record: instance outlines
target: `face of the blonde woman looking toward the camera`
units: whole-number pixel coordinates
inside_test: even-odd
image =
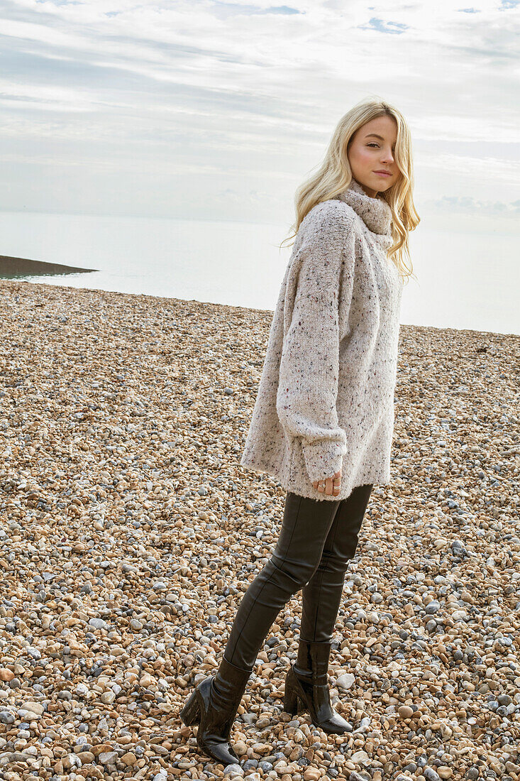
[[[391,116],[376,116],[354,133],[347,150],[354,179],[370,198],[392,187],[401,176],[394,160],[397,123]],[[389,175],[378,173],[388,171]]]

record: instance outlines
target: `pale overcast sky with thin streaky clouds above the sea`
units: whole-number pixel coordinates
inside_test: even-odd
[[[291,222],[376,96],[410,124],[419,214],[518,230],[518,0],[1,8],[2,210]]]

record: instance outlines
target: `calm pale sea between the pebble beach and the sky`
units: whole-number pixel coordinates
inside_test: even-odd
[[[455,230],[456,227],[456,230]],[[284,224],[0,212],[0,255],[99,269],[34,282],[274,309]],[[520,230],[511,219],[426,216],[411,234],[417,281],[401,323],[520,333]],[[1,276],[1,273],[0,273]]]

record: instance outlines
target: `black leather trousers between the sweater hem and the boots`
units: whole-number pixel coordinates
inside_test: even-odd
[[[237,608],[224,649],[228,662],[241,668],[255,665],[276,616],[300,589],[301,640],[332,640],[345,572],[371,492],[371,484],[358,486],[341,501],[287,492],[276,547]]]

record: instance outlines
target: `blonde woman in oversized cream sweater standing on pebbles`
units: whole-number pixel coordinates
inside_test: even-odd
[[[412,201],[408,125],[386,102],[354,106],[319,172],[297,191],[294,248],[272,319],[240,463],[287,490],[280,537],[240,601],[215,676],[180,717],[198,747],[238,762],[230,730],[269,628],[302,590],[297,662],[283,707],[327,733],[352,726],[330,703],[329,653],[344,576],[372,486],[390,482],[399,314]]]

